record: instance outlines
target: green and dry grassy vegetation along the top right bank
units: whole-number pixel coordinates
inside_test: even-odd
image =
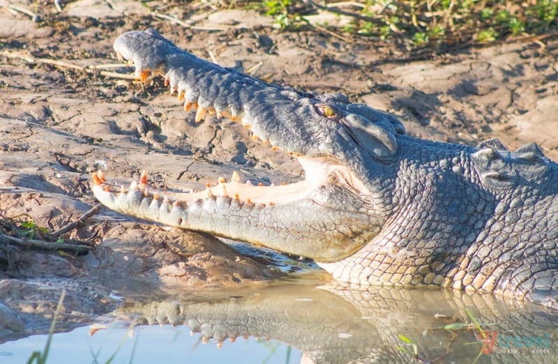
[[[412,47],[491,43],[558,30],[558,1],[554,0],[264,0],[248,4],[273,17],[280,29],[311,26],[306,17],[333,13],[338,24],[319,23],[315,16],[312,24],[354,36],[400,40]]]

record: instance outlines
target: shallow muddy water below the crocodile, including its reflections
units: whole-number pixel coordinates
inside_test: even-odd
[[[415,355],[441,363],[558,361],[556,314],[488,294],[453,291],[354,291],[281,282],[203,296],[127,300],[92,327],[107,328],[93,337],[90,327],[54,335],[52,357],[81,350],[83,363],[89,363],[91,347],[102,353],[99,359],[118,350],[126,363],[130,358],[152,363],[154,357],[188,363],[299,363],[301,356],[315,363],[400,363]],[[42,335],[2,344],[0,362],[21,363],[45,340]]]

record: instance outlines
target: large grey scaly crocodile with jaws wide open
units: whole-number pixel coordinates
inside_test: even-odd
[[[393,115],[340,94],[264,82],[199,59],[153,29],[123,33],[119,57],[195,109],[229,118],[299,160],[305,179],[201,192],[124,187],[93,173],[107,207],[172,227],[314,259],[352,287],[446,287],[558,308],[558,165],[537,144],[508,151],[405,134]]]

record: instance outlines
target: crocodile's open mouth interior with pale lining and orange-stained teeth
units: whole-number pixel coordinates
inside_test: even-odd
[[[120,52],[116,52],[119,59],[123,59]],[[128,59],[128,66],[134,65],[133,55],[126,54]],[[136,65],[137,66],[137,65]],[[160,69],[149,69],[145,66],[143,68],[136,67],[136,78],[145,82],[150,74],[160,75],[165,78],[165,86],[169,86],[171,95],[177,93],[179,102],[183,101],[183,108],[185,111],[193,111],[195,109],[195,121],[203,121],[206,116],[216,116],[218,118],[227,117],[232,121],[239,122],[242,126],[252,132],[252,139],[260,140],[264,144],[271,146],[274,151],[280,148],[273,145],[269,139],[258,133],[259,128],[252,128],[257,126],[257,121],[252,120],[249,110],[240,110],[232,107],[231,105],[223,106],[227,103],[223,100],[227,99],[227,95],[220,94],[211,97],[204,95],[196,89],[193,84],[186,82],[179,82],[177,77],[174,77],[172,72],[164,74]],[[287,91],[288,92],[288,91]],[[213,101],[209,101],[213,100]],[[331,110],[325,110],[331,112]],[[111,192],[128,192],[128,190],[140,189],[144,191],[144,195],[149,196],[155,194],[155,197],[162,197],[169,199],[170,202],[195,202],[199,199],[206,199],[208,197],[229,197],[231,199],[240,200],[252,204],[287,204],[308,197],[308,195],[317,190],[322,185],[327,185],[335,181],[336,184],[346,185],[352,190],[357,190],[366,193],[367,190],[363,183],[350,171],[345,165],[329,156],[309,157],[303,156],[301,153],[295,151],[284,150],[290,156],[295,156],[303,170],[306,178],[303,181],[290,184],[281,185],[252,185],[250,181],[245,183],[241,182],[238,173],[234,172],[232,177],[227,181],[225,178],[220,177],[218,183],[211,185],[207,183],[205,190],[201,192],[172,192],[165,190],[156,191],[152,188],[147,181],[147,175],[142,173],[139,181],[130,184],[129,188],[124,186],[117,186],[108,183],[102,172],[93,174],[93,181],[96,185],[103,185],[103,188]],[[163,196],[159,196],[163,195]]]

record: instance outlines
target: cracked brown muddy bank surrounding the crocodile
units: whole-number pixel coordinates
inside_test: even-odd
[[[0,0],[0,218],[59,229],[96,204],[91,172],[142,169],[159,185],[301,178],[298,162],[253,142],[231,121],[193,122],[161,79],[126,79],[112,41],[156,28],[190,52],[278,84],[343,92],[398,116],[407,132],[510,149],[538,142],[558,159],[558,38],[422,56],[369,38],[282,32],[250,11],[152,1]],[[169,17],[181,20],[176,24]],[[418,58],[418,59],[417,59]],[[114,75],[117,73],[117,75]],[[137,222],[107,210],[62,236],[88,255],[40,252],[0,239],[0,341],[44,332],[62,288],[61,328],[163,287],[219,287],[278,273],[216,238]],[[184,288],[189,289],[189,288]],[[1,329],[1,327],[4,327]]]

